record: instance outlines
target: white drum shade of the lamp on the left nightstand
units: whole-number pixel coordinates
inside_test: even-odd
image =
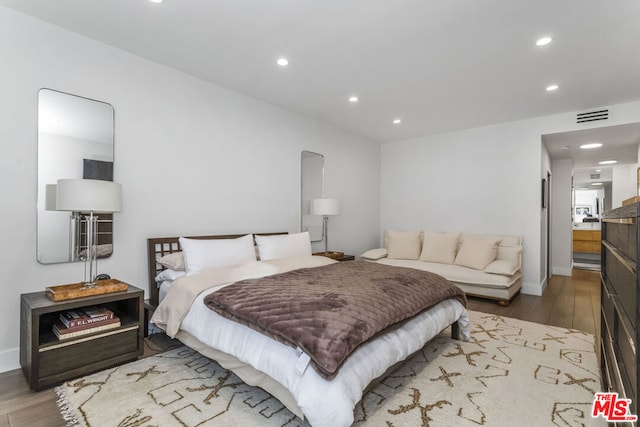
[[[56,208],[72,212],[120,212],[122,186],[97,179],[59,179]]]

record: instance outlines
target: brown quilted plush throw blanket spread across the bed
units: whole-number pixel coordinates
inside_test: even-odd
[[[302,349],[325,379],[387,328],[464,292],[442,276],[366,261],[243,280],[207,295],[211,310]]]

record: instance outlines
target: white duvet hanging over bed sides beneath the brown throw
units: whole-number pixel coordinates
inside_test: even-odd
[[[459,320],[463,337],[469,336],[464,307],[456,300],[444,301],[401,328],[361,346],[347,359],[338,375],[327,381],[311,367],[303,373],[296,369],[299,359],[296,349],[209,310],[203,298],[221,287],[198,295],[181,329],[274,378],[291,392],[308,421],[316,427],[350,426],[353,408],[367,385],[388,367],[422,348],[447,325]]]

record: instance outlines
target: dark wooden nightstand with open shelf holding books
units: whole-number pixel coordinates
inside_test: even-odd
[[[144,291],[127,291],[51,301],[42,292],[20,295],[20,365],[34,390],[124,362],[143,353]],[[118,328],[58,340],[53,324],[60,312],[106,307],[120,318]]]

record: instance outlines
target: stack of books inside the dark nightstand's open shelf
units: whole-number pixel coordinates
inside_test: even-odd
[[[53,333],[64,340],[120,326],[120,318],[105,307],[84,307],[63,311],[53,324]]]

